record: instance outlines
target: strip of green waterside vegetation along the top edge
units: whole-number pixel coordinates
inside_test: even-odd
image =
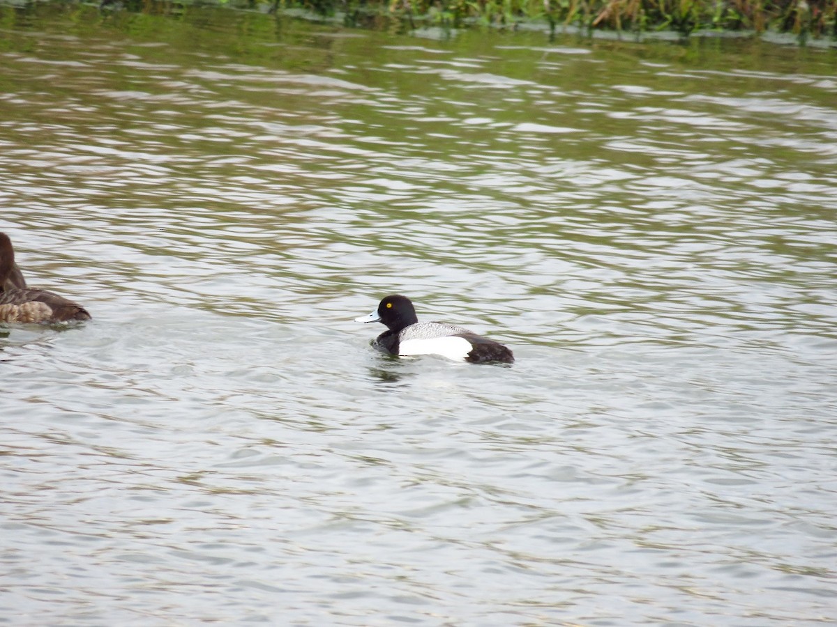
[[[330,18],[347,26],[408,30],[436,25],[519,28],[546,24],[592,34],[793,33],[837,42],[837,0],[96,0],[105,11],[172,13],[188,5],[220,5]],[[0,0],[3,4],[3,0]]]

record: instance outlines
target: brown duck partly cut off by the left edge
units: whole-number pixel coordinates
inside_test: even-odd
[[[27,288],[14,263],[12,240],[0,233],[0,322],[67,322],[90,320],[78,303],[45,289]]]

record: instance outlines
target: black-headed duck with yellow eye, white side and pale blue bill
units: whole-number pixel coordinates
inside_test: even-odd
[[[384,324],[388,330],[378,335],[372,346],[388,354],[437,354],[474,364],[511,364],[515,360],[508,347],[464,327],[445,322],[419,322],[413,301],[401,294],[383,298],[375,311],[356,318],[355,322]]]

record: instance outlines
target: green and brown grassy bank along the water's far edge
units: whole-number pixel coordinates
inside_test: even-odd
[[[388,13],[460,26],[513,26],[542,20],[552,28],[647,32],[699,30],[795,33],[837,38],[837,0],[275,0],[275,8],[316,13]]]

